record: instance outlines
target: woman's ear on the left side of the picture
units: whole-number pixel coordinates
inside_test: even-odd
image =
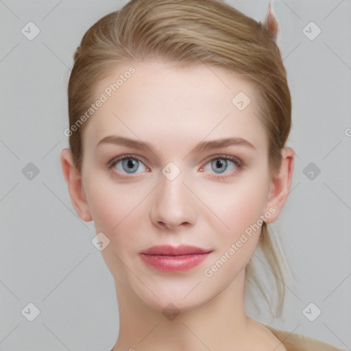
[[[75,168],[71,150],[63,149],[60,154],[60,162],[64,179],[68,185],[71,202],[77,215],[83,221],[92,221],[86,196],[82,186],[82,176]]]

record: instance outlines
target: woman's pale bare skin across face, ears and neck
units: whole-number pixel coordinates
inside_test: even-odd
[[[265,221],[278,217],[291,188],[293,149],[282,150],[280,171],[270,178],[268,140],[254,114],[258,109],[252,86],[222,69],[175,69],[160,62],[134,68],[136,73],[86,122],[82,175],[69,149],[60,156],[77,215],[94,220],[96,232],[110,240],[101,253],[119,301],[119,337],[113,350],[285,350],[244,311],[245,267],[261,228],[213,276],[205,276],[204,269],[269,208],[275,213]],[[128,66],[114,68],[97,84],[95,97],[127,70]],[[232,104],[241,91],[251,99],[243,111]],[[147,142],[154,151],[112,143],[97,147],[110,135]],[[244,138],[254,149],[230,145],[193,152],[201,141],[232,136]],[[144,161],[136,162],[139,168],[132,174],[122,161],[106,169],[123,154]],[[230,160],[227,168],[215,162],[211,167],[211,160],[221,157],[210,156],[223,154],[236,156],[244,167]],[[174,180],[162,174],[169,162],[180,169]],[[213,251],[197,267],[177,273],[141,261],[140,252],[166,243]],[[170,303],[180,312],[173,320],[162,313]]]

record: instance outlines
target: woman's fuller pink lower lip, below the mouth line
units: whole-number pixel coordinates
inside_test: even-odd
[[[141,259],[160,271],[187,271],[204,261],[210,254],[188,254],[180,256],[162,256],[141,254]]]

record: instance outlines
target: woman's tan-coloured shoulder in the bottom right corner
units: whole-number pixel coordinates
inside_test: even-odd
[[[263,324],[268,330],[270,330],[276,337],[282,342],[287,351],[344,351],[335,346],[314,339],[313,337],[307,337],[306,335],[298,334],[295,332],[289,332],[287,330],[280,330]]]

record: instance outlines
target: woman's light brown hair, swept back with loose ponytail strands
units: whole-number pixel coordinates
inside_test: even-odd
[[[118,64],[158,60],[189,67],[204,63],[247,80],[254,87],[258,118],[267,132],[271,175],[280,169],[282,148],[291,130],[291,95],[276,38],[263,23],[223,1],[132,0],[88,29],[74,60],[68,88],[70,128],[90,107],[97,82]],[[86,123],[69,135],[79,172]],[[274,274],[280,315],[285,297],[283,256],[265,222],[258,247]],[[256,282],[270,304],[256,278],[250,261],[245,279]]]

